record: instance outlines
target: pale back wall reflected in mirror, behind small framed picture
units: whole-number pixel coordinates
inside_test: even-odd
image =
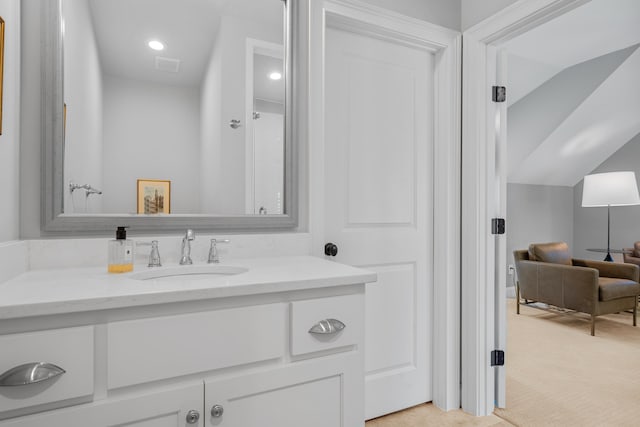
[[[105,75],[104,124],[104,213],[135,213],[140,178],[171,181],[171,213],[200,211],[198,88]]]

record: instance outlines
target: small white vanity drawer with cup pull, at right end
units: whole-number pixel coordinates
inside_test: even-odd
[[[338,320],[342,330],[327,330],[326,321]],[[322,323],[320,323],[322,322]],[[322,332],[311,329],[318,325]],[[364,295],[346,295],[291,303],[291,354],[294,356],[360,344],[364,331]]]

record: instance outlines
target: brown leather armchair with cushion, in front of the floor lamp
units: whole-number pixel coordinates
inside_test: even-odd
[[[513,256],[518,314],[523,298],[527,304],[542,302],[590,314],[591,335],[596,316],[603,314],[633,310],[636,326],[639,266],[571,258],[564,242],[534,243]]]

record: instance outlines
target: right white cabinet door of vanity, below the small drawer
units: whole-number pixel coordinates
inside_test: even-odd
[[[205,418],[220,427],[364,426],[361,355],[205,381]],[[360,368],[361,369],[361,368]],[[222,408],[219,416],[214,407]]]

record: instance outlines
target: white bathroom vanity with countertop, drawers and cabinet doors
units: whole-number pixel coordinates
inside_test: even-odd
[[[363,426],[375,280],[306,256],[27,272],[0,283],[0,374],[31,382],[0,386],[0,426]]]

